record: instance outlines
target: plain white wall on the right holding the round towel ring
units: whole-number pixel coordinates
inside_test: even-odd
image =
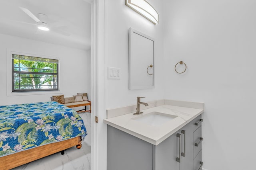
[[[255,169],[255,6],[255,0],[164,0],[164,98],[205,102],[207,170]],[[181,60],[188,70],[177,74]]]

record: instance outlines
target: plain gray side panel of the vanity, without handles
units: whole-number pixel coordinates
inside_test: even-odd
[[[107,131],[107,170],[153,169],[152,144],[109,125]]]

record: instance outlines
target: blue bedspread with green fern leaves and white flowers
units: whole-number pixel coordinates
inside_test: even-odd
[[[82,118],[58,102],[0,106],[0,157],[86,135]]]

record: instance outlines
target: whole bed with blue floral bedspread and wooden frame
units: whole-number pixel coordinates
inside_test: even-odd
[[[58,102],[0,106],[1,170],[32,162],[70,147],[87,135],[82,118]]]

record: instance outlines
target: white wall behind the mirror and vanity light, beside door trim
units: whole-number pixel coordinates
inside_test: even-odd
[[[162,1],[148,0],[162,15]],[[132,27],[154,38],[155,88],[129,90],[129,28]],[[125,5],[124,0],[105,3],[105,57],[107,66],[121,68],[120,80],[106,80],[106,108],[136,104],[136,97],[146,97],[143,102],[163,98],[163,21],[154,25]]]

